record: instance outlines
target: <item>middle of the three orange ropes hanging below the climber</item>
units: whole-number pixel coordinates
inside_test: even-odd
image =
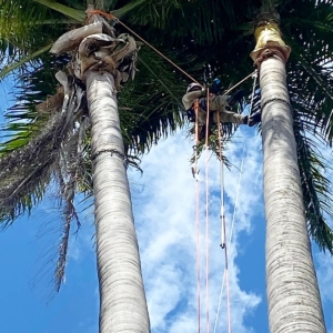
[[[209,290],[209,132],[210,132],[210,90],[206,89],[205,119],[205,299],[206,299],[206,333],[210,332],[210,290]]]

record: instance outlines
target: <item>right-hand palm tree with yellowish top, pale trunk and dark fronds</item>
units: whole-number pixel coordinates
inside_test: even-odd
[[[251,2],[255,10],[261,6]],[[332,2],[279,4],[285,39],[293,49],[290,83],[285,78],[290,48],[282,41],[280,20],[271,11],[255,21],[258,46],[252,52],[260,69],[254,112],[263,110],[270,327],[271,332],[325,332],[309,235],[321,250],[333,253],[333,233],[324,218],[327,213],[332,219],[330,181],[324,176],[330,163],[316,148],[317,142],[332,145]],[[238,3],[233,14],[234,26],[225,31],[229,39],[220,52],[219,43],[214,52],[198,44],[189,47],[201,61],[220,69],[225,81],[235,77],[231,70],[244,69],[246,61],[241,54],[251,46],[248,34],[239,34],[240,28],[245,31],[246,27],[241,27],[245,13]]]

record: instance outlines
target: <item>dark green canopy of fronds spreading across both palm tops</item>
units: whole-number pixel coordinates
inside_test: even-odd
[[[327,223],[327,216],[333,218],[331,183],[325,176],[331,167],[317,149],[317,142],[332,147],[333,138],[332,1],[269,2],[280,12],[283,38],[292,48],[287,81],[309,232],[322,250],[333,253],[333,233]],[[48,51],[63,32],[84,24],[89,3],[112,11],[198,81],[206,63],[214,68],[225,89],[253,71],[249,57],[254,46],[253,18],[262,1],[2,1],[0,78],[12,73],[17,82],[16,103],[6,113],[8,123],[1,127],[6,139],[0,145],[2,225],[29,212],[43,198],[51,179],[58,179],[60,193],[65,193],[67,216],[74,216],[74,208],[68,208],[74,193],[92,195],[87,112],[70,120],[72,127],[63,135],[65,144],[58,141],[57,133],[69,120],[59,117],[59,108],[41,112],[46,98],[57,93],[61,98],[54,74],[72,57],[69,53],[56,59]],[[119,32],[128,32],[117,21],[112,23]],[[160,138],[185,123],[180,100],[190,83],[148,46],[142,46],[138,68],[135,80],[119,93],[122,133],[129,161],[134,165]],[[251,81],[242,88],[250,95]],[[253,111],[259,109],[256,89]],[[73,170],[69,168],[73,157],[67,158],[78,144],[82,147],[78,159],[81,163]],[[12,168],[17,168],[14,178],[8,175]],[[73,174],[75,182],[63,183]]]

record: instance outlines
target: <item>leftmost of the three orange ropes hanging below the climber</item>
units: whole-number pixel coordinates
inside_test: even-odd
[[[194,112],[195,112],[195,162],[194,162],[194,172],[198,172],[198,147],[199,147],[199,101],[194,101]],[[201,324],[201,300],[200,300],[200,210],[199,210],[199,180],[196,179],[195,183],[195,221],[196,221],[196,302],[198,302],[198,333],[200,333]]]

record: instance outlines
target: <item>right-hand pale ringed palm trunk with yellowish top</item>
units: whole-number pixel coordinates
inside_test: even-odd
[[[290,50],[279,28],[265,24],[251,57],[260,68],[270,332],[324,333],[286,88]]]

